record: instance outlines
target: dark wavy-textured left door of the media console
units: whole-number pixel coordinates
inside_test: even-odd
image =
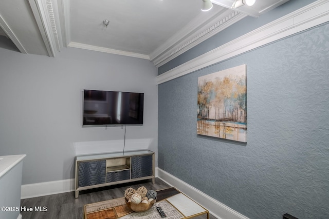
[[[105,166],[105,160],[79,163],[79,187],[105,183]]]

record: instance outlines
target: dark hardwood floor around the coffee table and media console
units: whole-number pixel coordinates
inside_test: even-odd
[[[78,198],[75,198],[74,192],[26,198],[21,200],[21,206],[23,208],[26,207],[26,211],[21,211],[21,214],[23,219],[83,219],[84,205],[123,197],[124,191],[128,187],[137,189],[140,186],[145,186],[148,190],[170,188],[168,184],[156,178],[155,184],[152,184],[151,180],[146,180],[80,191]],[[45,211],[35,211],[35,207],[40,207],[40,209]],[[46,207],[46,209],[44,209],[44,207]],[[32,211],[27,211],[31,208]],[[207,218],[207,216],[202,215],[195,218],[202,219]],[[210,215],[209,218],[215,219],[212,215]]]

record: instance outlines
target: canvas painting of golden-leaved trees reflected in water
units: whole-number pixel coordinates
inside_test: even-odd
[[[247,66],[198,77],[197,134],[247,142]]]

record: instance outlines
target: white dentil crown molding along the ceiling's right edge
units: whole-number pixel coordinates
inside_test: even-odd
[[[225,8],[213,14],[200,14],[157,48],[150,59],[156,67],[160,67],[246,16]]]

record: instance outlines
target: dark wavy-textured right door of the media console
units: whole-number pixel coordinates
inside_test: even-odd
[[[132,178],[153,175],[152,155],[132,156]]]

